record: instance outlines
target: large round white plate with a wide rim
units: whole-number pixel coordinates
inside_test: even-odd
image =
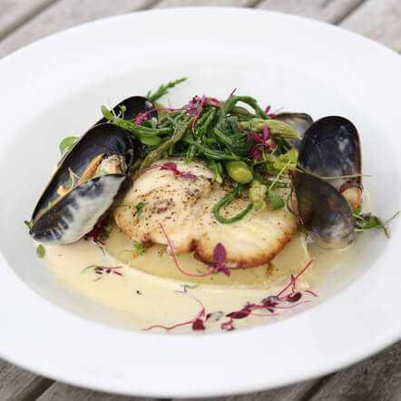
[[[224,335],[171,336],[72,313],[98,312],[48,276],[22,220],[64,135],[83,132],[102,103],[181,75],[190,80],[171,95],[174,103],[193,93],[224,97],[237,87],[274,107],[350,118],[361,132],[365,171],[375,175],[369,181],[375,210],[388,217],[400,209],[400,71],[399,55],[356,34],[230,8],[122,15],[6,57],[0,63],[0,356],[104,391],[221,396],[323,375],[395,342],[401,335],[399,221],[391,240],[376,232],[357,242],[362,272],[317,307]]]

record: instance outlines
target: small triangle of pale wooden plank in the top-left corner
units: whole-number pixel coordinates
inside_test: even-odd
[[[0,2],[0,37],[24,24],[56,0],[2,0]]]

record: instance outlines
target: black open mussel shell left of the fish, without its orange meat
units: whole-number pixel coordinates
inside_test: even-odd
[[[139,156],[140,144],[129,132],[110,123],[95,125],[75,143],[59,165],[34,208],[30,234],[41,242],[71,243],[93,229],[122,191],[127,172]],[[64,196],[57,190],[68,186],[99,155],[122,157],[125,171],[83,181]]]

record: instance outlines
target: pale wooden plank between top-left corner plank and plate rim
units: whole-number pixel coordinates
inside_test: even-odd
[[[105,16],[148,8],[156,0],[60,0],[50,5],[0,43],[0,57],[41,37]]]

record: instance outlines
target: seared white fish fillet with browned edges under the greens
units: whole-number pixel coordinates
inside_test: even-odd
[[[220,242],[227,252],[227,264],[245,268],[274,258],[297,230],[298,222],[286,208],[250,210],[239,221],[221,224],[211,210],[231,188],[213,182],[211,172],[201,162],[174,160],[179,171],[196,179],[161,170],[164,162],[158,161],[136,178],[114,210],[117,225],[132,240],[167,245],[162,226],[176,253],[194,251],[197,258],[212,263],[213,249]],[[142,212],[138,213],[141,203]],[[248,203],[244,195],[220,213],[232,216]]]

